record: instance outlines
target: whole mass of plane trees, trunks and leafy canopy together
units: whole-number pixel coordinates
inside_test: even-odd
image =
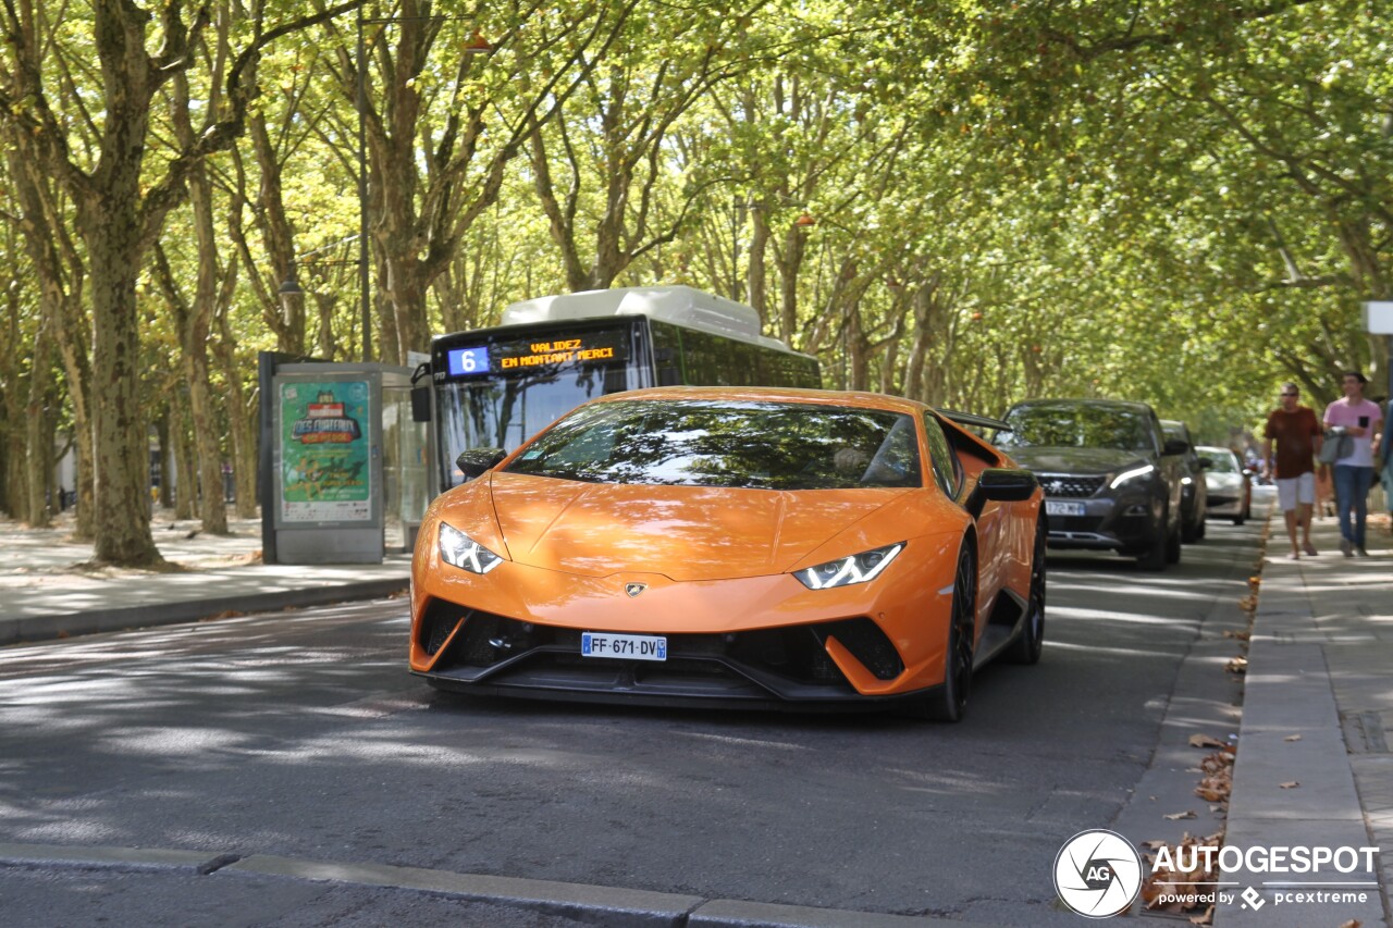
[[[258,351],[405,362],[649,283],[749,302],[827,386],[1146,400],[1226,443],[1282,380],[1386,379],[1390,13],[7,0],[0,507],[42,524],[71,436],[79,532],[148,560],[149,435],[219,531]]]

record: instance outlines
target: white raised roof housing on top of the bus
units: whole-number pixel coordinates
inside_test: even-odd
[[[554,297],[534,297],[503,309],[500,325],[596,319],[602,316],[648,316],[687,329],[710,332],[727,339],[752,341],[768,348],[791,351],[777,339],[759,333],[759,314],[752,307],[680,284],[666,287],[614,287],[585,290]]]

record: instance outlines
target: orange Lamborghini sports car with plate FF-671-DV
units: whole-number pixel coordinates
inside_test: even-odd
[[[411,669],[447,690],[652,705],[898,705],[1041,656],[1035,478],[921,403],[659,387],[593,400],[432,503]]]

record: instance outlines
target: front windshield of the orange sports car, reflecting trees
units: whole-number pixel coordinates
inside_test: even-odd
[[[843,489],[919,486],[914,419],[805,403],[603,403],[578,410],[508,468],[599,484]]]

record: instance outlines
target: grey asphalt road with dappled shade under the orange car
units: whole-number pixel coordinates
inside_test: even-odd
[[[956,726],[437,694],[405,672],[404,599],[6,648],[0,843],[1077,925],[1055,856],[1133,800],[1201,624],[1247,592],[1258,529],[1211,523],[1163,574],[1052,553],[1045,658],[982,672]],[[0,908],[22,913],[10,925],[570,924],[407,890],[32,867],[0,867]]]

